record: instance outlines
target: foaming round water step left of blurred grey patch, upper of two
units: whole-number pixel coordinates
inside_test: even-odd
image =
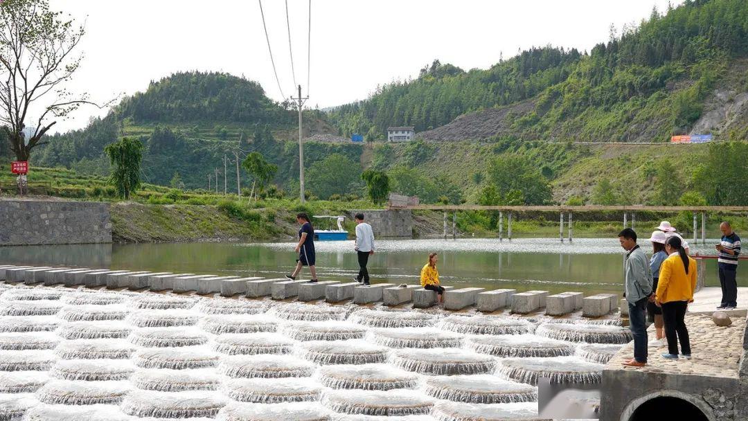
[[[536,387],[495,375],[453,375],[426,379],[426,393],[436,399],[470,404],[535,402]]]

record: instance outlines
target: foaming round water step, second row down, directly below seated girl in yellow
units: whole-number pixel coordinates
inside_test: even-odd
[[[374,342],[390,348],[459,348],[463,336],[436,328],[377,329]]]

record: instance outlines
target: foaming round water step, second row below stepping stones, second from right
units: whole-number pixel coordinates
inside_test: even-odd
[[[468,337],[468,348],[496,357],[560,357],[574,354],[574,345],[533,334]]]

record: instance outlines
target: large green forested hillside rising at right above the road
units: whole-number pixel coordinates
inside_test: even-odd
[[[748,137],[740,107],[737,118],[699,121],[748,91],[740,60],[748,57],[748,1],[689,0],[619,32],[591,52],[530,49],[488,70],[435,61],[417,79],[387,84],[329,118],[341,134],[370,139],[387,126],[423,132],[476,111],[423,138],[665,141],[694,127]]]

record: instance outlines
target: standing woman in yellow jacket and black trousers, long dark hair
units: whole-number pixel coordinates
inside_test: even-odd
[[[691,259],[682,247],[681,239],[672,236],[665,242],[665,251],[669,257],[660,266],[660,280],[657,282],[655,301],[662,307],[667,338],[664,358],[678,359],[678,341],[681,342],[681,354],[687,360],[691,358],[691,344],[684,318],[686,307],[693,301],[696,289],[696,260]]]

